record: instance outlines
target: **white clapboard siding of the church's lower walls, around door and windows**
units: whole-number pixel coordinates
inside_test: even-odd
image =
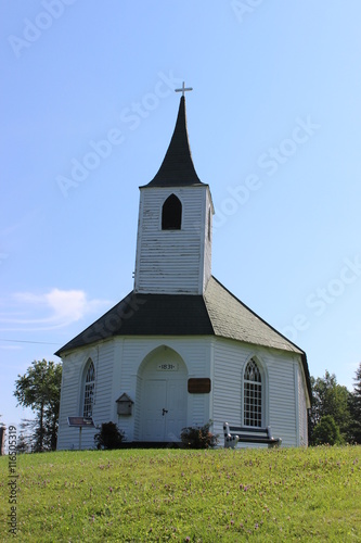
[[[64,358],[59,449],[78,449],[78,429],[68,427],[67,417],[81,415],[88,357],[96,372],[94,422],[113,420],[128,441],[139,440],[144,368],[155,355],[164,361],[165,346],[185,364],[186,379],[211,380],[210,393],[186,393],[186,426],[212,419],[214,432],[222,435],[224,421],[242,425],[243,374],[245,364],[255,356],[262,371],[265,425],[282,438],[283,446],[307,444],[306,384],[298,355],[217,337],[123,337]],[[118,416],[116,412],[116,400],[124,392],[134,402],[130,416]],[[93,447],[93,434],[92,430],[83,430],[83,449]]]

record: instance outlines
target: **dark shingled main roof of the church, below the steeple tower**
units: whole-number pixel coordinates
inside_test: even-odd
[[[208,281],[204,296],[136,294],[130,292],[105,315],[55,354],[114,336],[218,336],[255,345],[300,354],[311,394],[306,354],[237,300],[217,279]]]

